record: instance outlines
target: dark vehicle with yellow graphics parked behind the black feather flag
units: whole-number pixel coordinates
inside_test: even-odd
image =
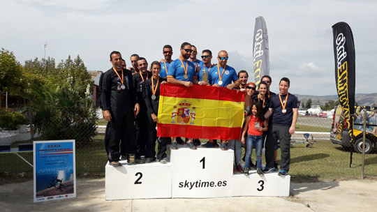
[[[340,144],[343,148],[353,147],[357,153],[362,153],[362,132],[364,128],[362,109],[367,109],[365,153],[368,154],[377,149],[377,107],[369,106],[355,107],[355,121],[353,122],[354,145],[350,143],[350,135],[347,131],[347,123],[344,121],[343,110],[340,105],[335,107],[330,131],[330,140],[333,144]]]

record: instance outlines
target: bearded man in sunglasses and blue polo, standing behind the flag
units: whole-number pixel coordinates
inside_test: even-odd
[[[198,79],[195,75],[195,64],[191,63],[191,61],[188,61],[192,51],[193,50],[191,50],[190,43],[182,43],[180,49],[181,54],[179,55],[179,58],[175,61],[172,61],[168,68],[168,83],[181,84],[186,87],[190,87],[193,84],[207,84],[198,82]],[[193,139],[188,139],[187,146],[190,149],[196,149],[196,146],[193,144]],[[177,137],[173,137],[170,148],[178,149]]]

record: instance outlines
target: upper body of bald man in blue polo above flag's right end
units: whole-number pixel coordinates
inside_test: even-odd
[[[221,50],[217,56],[219,63],[217,66],[214,66],[209,70],[209,75],[211,75],[210,83],[213,86],[223,86],[228,89],[234,89],[239,86],[235,69],[226,65],[226,63],[228,63],[228,58],[228,52]]]

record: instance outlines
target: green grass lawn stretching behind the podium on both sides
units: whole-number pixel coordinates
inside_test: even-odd
[[[77,177],[103,177],[107,162],[103,136],[96,135],[94,142],[76,147]],[[205,142],[202,140],[202,142]],[[24,143],[24,142],[22,142]],[[244,149],[243,149],[244,151]],[[280,158],[280,151],[278,159]],[[168,155],[170,149],[168,149]],[[20,153],[33,162],[33,153]],[[253,161],[256,154],[253,153]],[[290,176],[294,182],[316,182],[334,179],[360,179],[362,155],[353,153],[353,167],[349,167],[350,152],[328,140],[317,140],[312,148],[296,144],[290,149]],[[279,160],[278,160],[279,162]],[[265,163],[263,161],[263,163]],[[377,176],[377,153],[365,156],[364,176]],[[33,179],[33,168],[13,153],[0,153],[0,185]]]

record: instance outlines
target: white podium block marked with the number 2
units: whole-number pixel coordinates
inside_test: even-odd
[[[172,197],[172,165],[151,162],[105,167],[105,199],[149,199]]]

